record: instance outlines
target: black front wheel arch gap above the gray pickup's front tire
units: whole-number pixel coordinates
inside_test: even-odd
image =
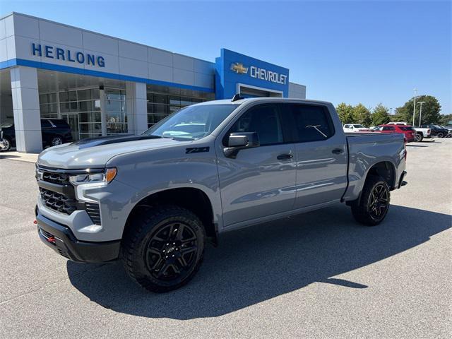
[[[147,210],[148,208],[169,204],[187,208],[195,213],[203,222],[206,235],[210,242],[214,246],[218,244],[218,224],[214,220],[212,203],[204,191],[193,187],[165,189],[164,191],[150,194],[141,199],[141,201],[138,201],[127,217],[123,230],[123,238],[130,227],[133,227],[133,219],[137,213],[143,213],[143,210]]]

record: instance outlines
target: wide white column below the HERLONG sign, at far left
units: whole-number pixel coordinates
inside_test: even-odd
[[[23,153],[40,152],[42,136],[37,70],[18,66],[11,69],[10,73],[16,149]]]

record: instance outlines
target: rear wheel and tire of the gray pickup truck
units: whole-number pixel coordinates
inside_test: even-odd
[[[388,184],[381,177],[369,177],[364,183],[359,203],[352,204],[352,215],[367,226],[376,226],[388,213],[391,192]]]

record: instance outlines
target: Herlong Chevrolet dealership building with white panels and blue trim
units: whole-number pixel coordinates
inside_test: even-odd
[[[74,140],[142,133],[196,102],[306,97],[289,69],[221,49],[214,62],[20,13],[0,18],[0,124],[20,152],[42,150],[41,118],[65,119]]]

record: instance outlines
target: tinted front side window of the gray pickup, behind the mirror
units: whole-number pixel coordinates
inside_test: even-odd
[[[261,145],[283,143],[283,128],[278,107],[276,105],[251,107],[235,121],[229,131],[229,133],[237,132],[257,132]]]

